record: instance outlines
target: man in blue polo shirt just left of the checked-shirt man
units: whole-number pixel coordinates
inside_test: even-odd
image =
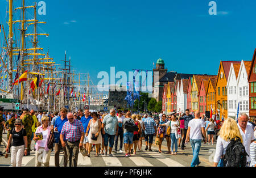
[[[65,122],[68,121],[67,118],[68,109],[61,108],[60,109],[60,117],[56,118],[55,125],[54,125],[54,138],[55,138],[55,167],[60,167],[60,149],[61,149],[61,142],[60,142],[60,133],[63,128],[63,125]],[[66,139],[64,138],[64,141]],[[68,165],[68,155],[67,150],[63,148],[64,153],[64,167],[67,167]]]

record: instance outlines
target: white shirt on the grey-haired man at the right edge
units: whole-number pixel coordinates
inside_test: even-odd
[[[249,123],[249,122],[248,122]],[[245,151],[247,152],[247,154],[249,156],[247,156],[247,162],[250,162],[250,145],[251,145],[251,141],[253,141],[254,138],[254,133],[253,133],[253,125],[252,124],[247,124],[246,128],[245,128],[245,133],[243,133],[240,125],[237,123],[237,126],[240,130],[240,133],[243,137],[243,145],[245,146]]]

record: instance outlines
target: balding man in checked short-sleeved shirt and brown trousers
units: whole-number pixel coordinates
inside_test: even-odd
[[[82,149],[84,140],[84,126],[79,120],[74,119],[72,113],[68,113],[67,118],[68,122],[65,122],[60,133],[60,141],[64,149],[67,150],[69,167],[77,167],[79,148]]]

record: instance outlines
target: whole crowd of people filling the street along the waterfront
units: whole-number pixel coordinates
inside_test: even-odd
[[[49,166],[51,151],[55,152],[55,166],[60,166],[60,151],[64,154],[64,167],[77,166],[79,151],[83,156],[113,156],[113,152],[129,157],[151,147],[155,137],[158,152],[162,153],[162,143],[167,141],[164,154],[176,155],[178,147],[185,150],[188,142],[192,147],[191,167],[199,166],[201,143],[214,145],[216,153],[213,166],[226,166],[226,151],[230,142],[239,140],[245,147],[246,166],[256,166],[255,120],[249,121],[245,113],[238,116],[238,123],[232,118],[213,120],[200,112],[173,112],[166,115],[132,114],[110,109],[109,113],[90,112],[79,109],[68,112],[61,108],[59,112],[47,113],[24,109],[22,113],[4,112],[0,108],[1,133],[7,131],[6,152],[11,152],[11,164],[21,166],[23,156],[30,155],[31,141],[35,141],[35,166]],[[136,130],[127,128],[133,125]],[[214,138],[216,135],[216,138]],[[0,135],[2,142],[2,134]],[[210,142],[211,141],[211,142]],[[54,143],[53,143],[54,142]],[[119,147],[118,147],[119,144]],[[33,146],[32,146],[33,147]],[[114,148],[114,150],[113,150]],[[32,148],[33,149],[33,148]]]

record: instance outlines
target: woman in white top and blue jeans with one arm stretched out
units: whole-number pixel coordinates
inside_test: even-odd
[[[171,125],[170,125],[171,122]],[[165,124],[161,124],[160,126],[171,126],[171,151],[172,151],[172,155],[176,155],[177,154],[177,138],[176,138],[176,132],[177,132],[177,128],[179,128],[179,121],[176,120],[176,116],[175,115],[171,115],[171,121],[166,122]],[[168,129],[168,128],[167,128]],[[175,145],[175,152],[174,152],[174,145]]]

